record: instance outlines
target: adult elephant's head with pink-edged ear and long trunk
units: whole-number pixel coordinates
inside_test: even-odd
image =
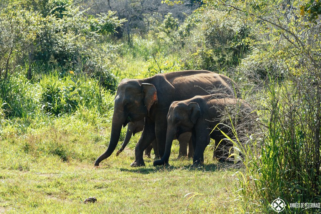
[[[139,80],[123,79],[115,96],[114,114],[111,126],[110,141],[105,153],[100,155],[95,166],[108,158],[115,150],[122,126],[129,122],[139,121],[149,115],[153,104],[157,102],[157,91],[153,84],[140,83]]]

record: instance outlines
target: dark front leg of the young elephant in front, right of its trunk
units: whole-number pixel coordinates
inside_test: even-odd
[[[204,151],[209,143],[210,136],[208,132],[196,132],[196,147],[193,157],[193,166],[204,164]]]

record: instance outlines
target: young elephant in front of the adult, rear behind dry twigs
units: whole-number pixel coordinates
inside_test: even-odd
[[[174,101],[170,105],[167,114],[168,126],[165,154],[160,160],[154,161],[154,166],[168,163],[173,136],[184,132],[192,132],[193,144],[195,146],[193,164],[203,164],[204,150],[209,144],[210,138],[215,140],[215,144],[219,143],[221,139],[226,138],[221,131],[232,137],[231,130],[223,125],[229,123],[229,117],[224,117],[224,112],[230,107],[238,109],[237,112],[241,112],[242,116],[244,112],[248,116],[251,114],[249,105],[241,99],[215,99],[213,95],[207,95],[195,96],[183,101]],[[244,120],[245,118],[242,119]],[[217,124],[219,125],[216,127]],[[216,128],[214,129],[214,127]],[[212,132],[213,129],[214,131]],[[226,159],[229,156],[229,149],[233,144],[230,141],[225,141],[221,142],[220,145],[218,150],[216,150],[216,156]]]

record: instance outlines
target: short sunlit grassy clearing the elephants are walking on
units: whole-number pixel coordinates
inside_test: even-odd
[[[61,121],[60,121],[61,122]],[[230,213],[232,176],[237,169],[218,167],[206,150],[204,168],[179,160],[178,143],[170,167],[132,168],[133,138],[120,156],[93,167],[106,148],[110,129],[85,133],[56,124],[0,141],[0,212],[6,213]],[[120,146],[120,145],[118,145]],[[200,193],[194,198],[193,194]],[[97,203],[83,204],[95,196]]]

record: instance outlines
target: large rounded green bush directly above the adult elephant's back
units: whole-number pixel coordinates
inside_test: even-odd
[[[194,22],[182,52],[186,69],[217,71],[235,67],[250,48],[249,28],[239,17],[208,10]]]

